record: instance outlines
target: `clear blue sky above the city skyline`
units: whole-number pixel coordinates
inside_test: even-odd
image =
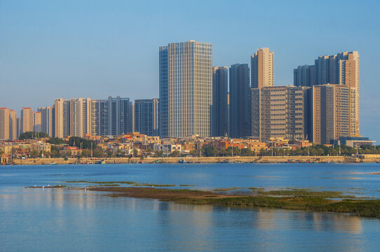
[[[158,46],[213,44],[217,66],[275,52],[275,85],[319,55],[360,53],[360,134],[380,144],[380,1],[0,0],[0,106],[158,97]]]

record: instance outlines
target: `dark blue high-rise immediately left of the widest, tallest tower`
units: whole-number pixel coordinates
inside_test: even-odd
[[[158,136],[158,99],[135,100],[135,131]]]

